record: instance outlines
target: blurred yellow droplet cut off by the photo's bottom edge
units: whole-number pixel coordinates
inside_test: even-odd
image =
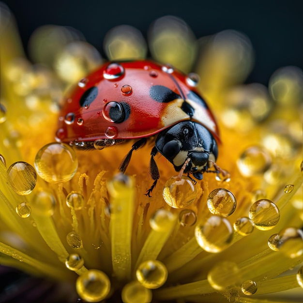
[[[132,281],[123,287],[121,297],[124,303],[150,303],[152,291],[139,282]]]

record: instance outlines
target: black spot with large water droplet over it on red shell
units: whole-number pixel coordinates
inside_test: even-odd
[[[107,121],[121,123],[128,118],[130,107],[124,102],[110,101],[104,106],[102,114]]]

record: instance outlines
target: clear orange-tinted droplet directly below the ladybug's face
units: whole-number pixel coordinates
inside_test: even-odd
[[[173,208],[184,208],[191,205],[197,197],[197,189],[190,178],[173,176],[163,187],[165,202]]]

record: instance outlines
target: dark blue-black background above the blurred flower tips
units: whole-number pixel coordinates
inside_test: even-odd
[[[246,34],[255,49],[255,67],[246,82],[267,85],[282,66],[303,67],[303,1],[102,1],[4,0],[13,14],[25,49],[31,33],[45,24],[81,31],[103,55],[108,30],[128,24],[146,36],[153,20],[164,15],[182,18],[197,37],[233,29]]]

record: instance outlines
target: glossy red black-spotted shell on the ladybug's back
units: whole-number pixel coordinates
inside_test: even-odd
[[[218,138],[217,124],[190,79],[152,61],[107,62],[82,79],[61,108],[58,141],[152,136],[192,120]]]

